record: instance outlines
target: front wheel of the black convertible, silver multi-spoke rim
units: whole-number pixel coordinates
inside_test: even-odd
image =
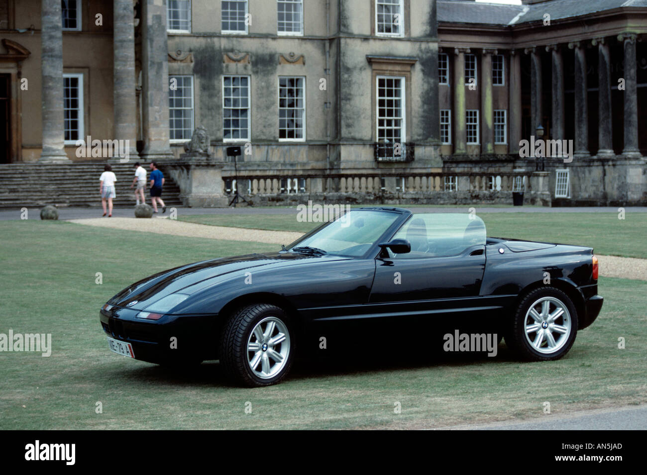
[[[220,338],[219,358],[225,375],[236,383],[270,386],[292,366],[296,339],[288,315],[270,304],[235,311]]]

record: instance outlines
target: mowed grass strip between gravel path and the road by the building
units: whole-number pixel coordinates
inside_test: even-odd
[[[406,207],[406,206],[405,206]],[[414,213],[415,207],[411,209]],[[467,209],[465,211],[468,212]],[[307,233],[320,223],[299,222],[289,215],[192,215],[182,221],[211,226],[250,227]],[[478,213],[487,235],[588,246],[601,255],[647,259],[647,213]],[[285,243],[288,244],[288,243]]]

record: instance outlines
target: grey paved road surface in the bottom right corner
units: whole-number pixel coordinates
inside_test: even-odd
[[[461,425],[439,430],[647,430],[647,405],[546,414],[525,421]]]

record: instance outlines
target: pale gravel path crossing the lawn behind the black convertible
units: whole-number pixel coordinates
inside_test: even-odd
[[[91,218],[72,219],[73,223],[89,226],[113,227],[130,231],[169,234],[175,236],[225,239],[246,242],[266,242],[267,244],[289,244],[301,233],[289,231],[264,231],[245,227],[206,226],[190,222],[171,220],[169,218]],[[597,255],[597,254],[596,254]],[[600,275],[620,277],[622,279],[647,280],[647,259],[597,255],[600,261]]]

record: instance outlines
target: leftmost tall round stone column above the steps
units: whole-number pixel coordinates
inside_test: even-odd
[[[41,162],[70,162],[65,154],[63,112],[63,30],[60,0],[41,1]],[[83,114],[83,111],[81,111]],[[85,140],[85,138],[82,138]]]

